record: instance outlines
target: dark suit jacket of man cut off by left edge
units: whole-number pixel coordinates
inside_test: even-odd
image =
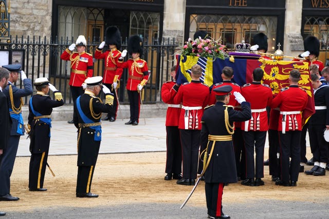
[[[0,91],[0,149],[5,149],[7,147],[11,123],[7,97]]]

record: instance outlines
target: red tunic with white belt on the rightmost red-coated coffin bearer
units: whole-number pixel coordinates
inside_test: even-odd
[[[271,104],[271,108],[280,108],[278,131],[285,133],[286,131],[302,130],[301,111],[306,108],[307,100],[306,91],[299,88],[298,85],[290,85],[281,89]]]

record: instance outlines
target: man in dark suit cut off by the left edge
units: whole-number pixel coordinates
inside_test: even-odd
[[[0,164],[4,156],[4,150],[6,150],[10,128],[11,128],[11,119],[9,116],[8,102],[7,97],[3,94],[3,89],[7,86],[9,78],[9,71],[5,68],[0,68]],[[1,168],[1,165],[0,165]],[[0,216],[4,216],[5,212],[0,212]]]

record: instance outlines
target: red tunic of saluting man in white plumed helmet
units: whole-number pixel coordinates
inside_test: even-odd
[[[61,54],[61,59],[71,61],[70,86],[81,87],[87,77],[93,76],[93,55],[65,49]]]

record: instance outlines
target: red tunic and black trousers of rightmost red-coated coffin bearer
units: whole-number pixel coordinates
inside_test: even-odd
[[[298,181],[300,166],[301,111],[306,108],[307,93],[297,85],[281,89],[273,98],[271,108],[280,107],[278,131],[280,138],[281,181]],[[291,160],[289,162],[289,157]]]

